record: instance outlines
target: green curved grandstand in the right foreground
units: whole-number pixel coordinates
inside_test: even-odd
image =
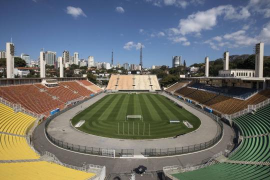
[[[196,170],[180,168],[179,173],[174,169],[171,175],[177,179],[269,179],[269,115],[270,105],[267,105],[254,114],[233,119],[242,129],[242,142],[223,162],[214,160],[214,164],[211,162],[203,168],[194,166]]]

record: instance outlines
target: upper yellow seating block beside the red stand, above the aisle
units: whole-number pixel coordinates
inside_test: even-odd
[[[0,103],[0,131],[13,134],[25,135],[27,127],[36,118],[14,110]]]

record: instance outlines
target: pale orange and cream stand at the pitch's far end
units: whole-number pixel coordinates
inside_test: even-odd
[[[112,74],[109,79],[106,90],[159,91],[161,90],[161,88],[156,75]]]

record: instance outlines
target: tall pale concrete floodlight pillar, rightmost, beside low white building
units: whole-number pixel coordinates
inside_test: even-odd
[[[255,77],[263,77],[263,42],[255,45]]]

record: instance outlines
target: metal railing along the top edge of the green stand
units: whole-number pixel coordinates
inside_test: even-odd
[[[263,107],[265,105],[268,105],[270,103],[270,98],[260,102],[260,103],[257,103],[257,104],[254,104],[254,105],[248,105],[247,108],[243,109],[243,110],[240,110],[238,112],[235,112],[233,114],[222,114],[221,117],[224,117],[226,119],[232,119],[232,118],[236,118],[236,117],[239,117],[241,115],[244,115],[246,113],[249,113],[251,112],[253,109],[258,109],[260,107]]]

